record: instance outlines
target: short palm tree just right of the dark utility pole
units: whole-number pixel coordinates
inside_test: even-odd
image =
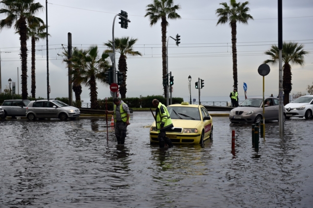
[[[73,77],[72,77],[72,83],[74,82],[74,80],[76,80],[76,76],[79,76],[79,70],[80,70],[80,66],[81,66],[81,56],[86,56],[88,53],[88,50],[83,50],[83,49],[77,49],[74,48],[73,53],[72,53],[72,57],[75,57],[74,60],[76,60],[77,62],[74,63],[74,65],[78,68],[73,68],[73,70],[75,70],[77,73],[74,73]],[[68,60],[68,52],[67,50],[65,50],[64,52],[62,52],[63,56],[65,57],[63,59],[63,62],[67,63],[67,67],[69,67],[69,60]],[[70,60],[71,62],[73,62],[73,60]],[[72,64],[73,65],[73,64]],[[80,83],[74,83],[72,86],[72,89],[75,93],[75,100],[76,100],[76,107],[81,108],[82,107],[82,102],[81,102],[81,97],[80,95],[82,94],[83,90],[82,90],[82,85]]]

